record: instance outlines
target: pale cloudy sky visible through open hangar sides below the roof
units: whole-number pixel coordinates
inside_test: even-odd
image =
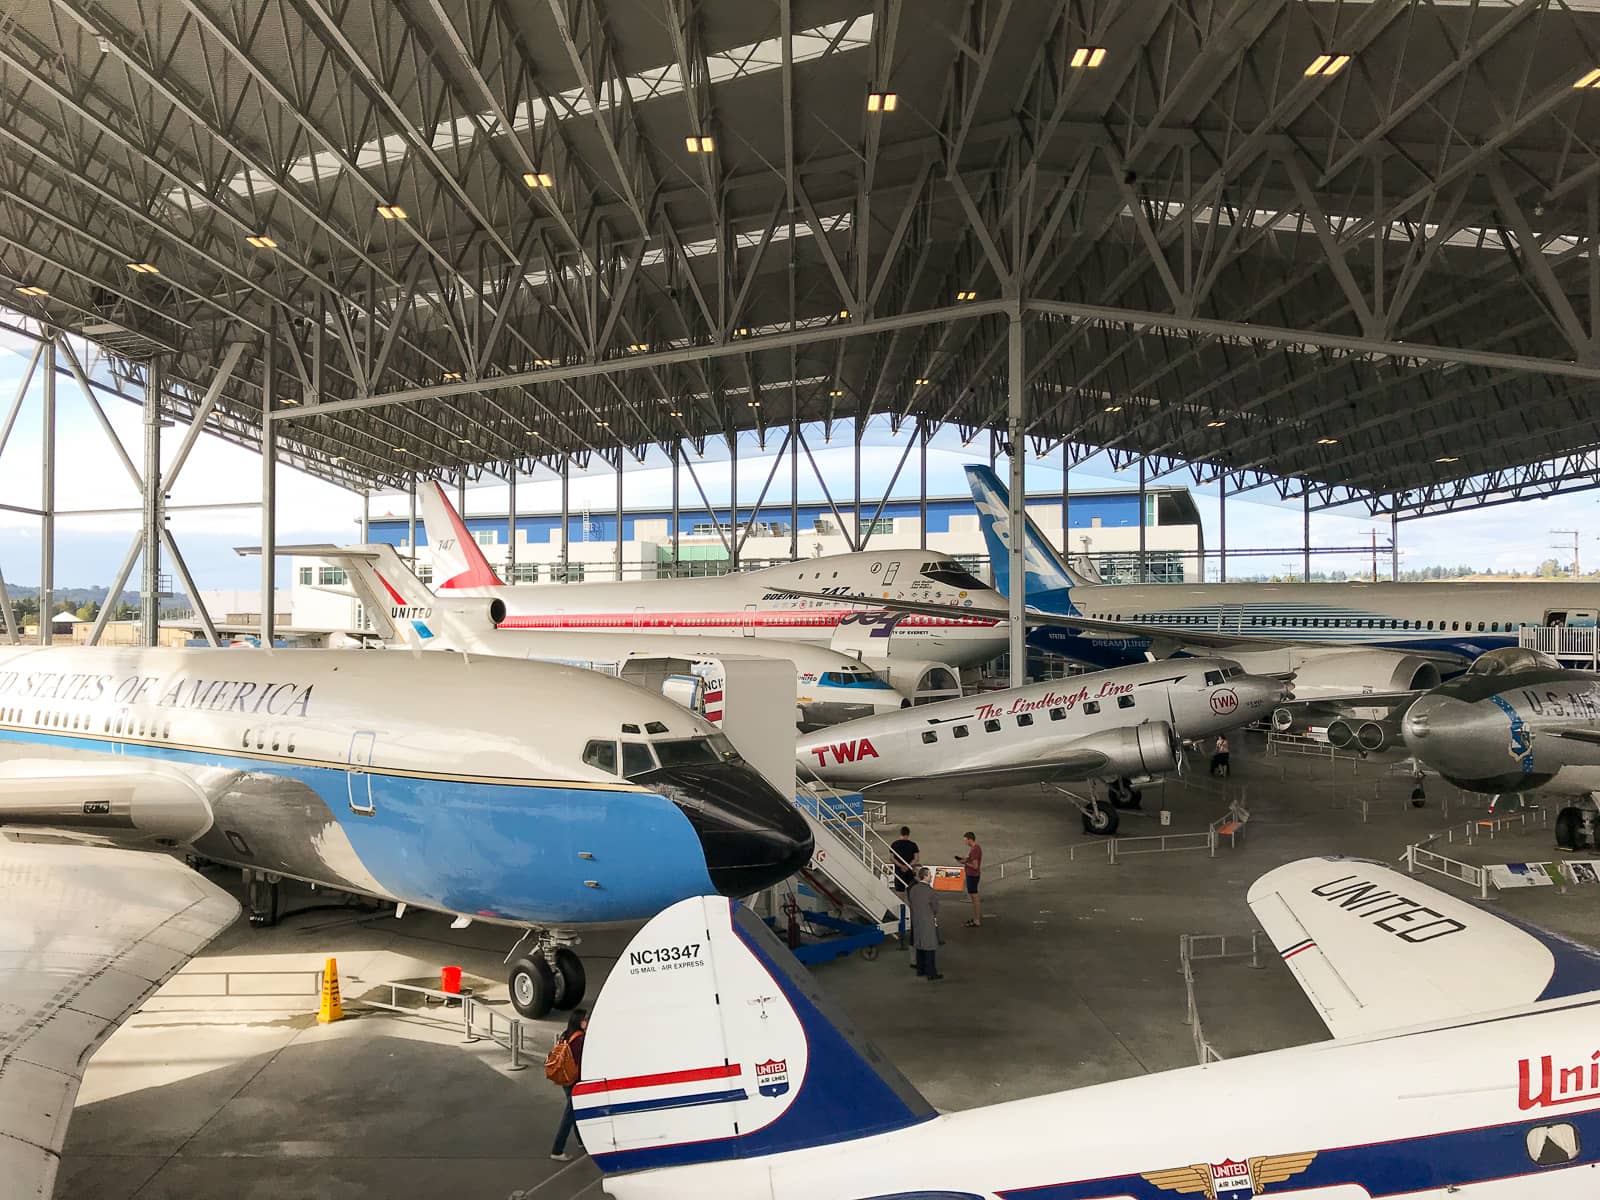
[[[11,410],[21,379],[24,378],[32,347],[21,339],[0,338],[0,429]],[[35,376],[11,430],[0,450],[0,504],[40,507],[40,392]],[[141,410],[115,397],[101,397],[101,405],[110,426],[134,464],[142,462]],[[66,509],[114,509],[136,507],[139,502],[133,480],[122,466],[99,421],[83,400],[82,390],[70,378],[56,384],[58,408],[58,482],[56,506]],[[182,440],[184,427],[163,429],[163,466],[171,461]],[[821,432],[808,435],[818,469],[829,478],[834,499],[843,506],[843,496],[851,491],[853,454],[848,429],[826,445]],[[890,434],[880,419],[872,422],[862,446],[862,494],[872,502],[883,494],[901,453],[906,437]],[[776,450],[781,434],[771,435],[768,445]],[[624,501],[635,504],[666,506],[670,498],[670,470],[659,451],[646,456],[643,464],[629,459],[624,474]],[[930,446],[928,491],[930,494],[965,494],[962,477],[965,462],[987,462],[982,438],[963,446],[955,430],[944,430]],[[728,496],[728,448],[723,443],[709,445],[702,459],[694,459],[701,486],[712,502],[725,502]],[[739,443],[739,499],[752,502],[762,491],[771,469],[771,456],[763,454],[754,435],[746,434]],[[997,464],[1002,477],[1006,461]],[[1029,456],[1029,491],[1061,490],[1061,456],[1045,459]],[[170,528],[179,542],[184,558],[202,589],[258,589],[259,563],[242,558],[235,546],[254,546],[261,539],[259,501],[261,461],[248,450],[232,446],[219,438],[202,437],[171,488],[170,506],[186,504],[248,504],[254,507],[171,510]],[[1189,483],[1187,475],[1170,475],[1160,483]],[[1114,472],[1104,456],[1090,459],[1072,472],[1074,490],[1136,486],[1136,470]],[[685,504],[698,501],[698,491],[688,472],[682,478]],[[1218,496],[1214,488],[1192,488],[1195,504],[1205,526],[1208,549],[1218,546]],[[896,496],[915,496],[917,454],[907,458],[899,475]],[[821,499],[821,488],[802,456],[800,498]],[[789,462],[778,467],[768,491],[768,502],[789,499]],[[584,504],[592,509],[611,509],[616,504],[616,477],[605,467],[573,475],[574,512]],[[1480,512],[1430,517],[1402,522],[1402,566],[1427,565],[1454,566],[1467,563],[1485,570],[1531,571],[1544,558],[1560,562],[1571,558],[1571,550],[1557,550],[1557,542],[1571,546],[1571,536],[1552,534],[1550,530],[1581,530],[1581,547],[1592,565],[1600,565],[1600,538],[1594,531],[1597,499],[1590,493],[1576,493],[1555,499],[1525,501]],[[518,507],[558,509],[560,491],[555,477],[541,470],[518,483]],[[488,483],[469,491],[467,510],[504,510],[504,483]],[[403,515],[403,496],[374,496],[374,515],[392,512]],[[1290,552],[1270,558],[1230,558],[1232,576],[1275,573],[1299,568],[1301,506],[1298,501],[1280,504],[1269,488],[1242,496],[1230,496],[1227,504],[1229,549],[1288,547]],[[278,541],[355,541],[360,517],[360,498],[342,488],[323,483],[291,467],[278,467]],[[117,571],[128,544],[138,528],[136,514],[96,514],[61,517],[56,533],[56,586],[91,587],[107,586]],[[1366,517],[1358,509],[1326,510],[1312,514],[1312,546],[1368,546],[1371,531],[1387,546],[1389,522]],[[0,573],[8,584],[34,586],[40,566],[38,518],[0,509]],[[1370,563],[1370,554],[1320,555],[1314,570],[1360,571]],[[1381,562],[1381,568],[1386,563]],[[171,565],[163,563],[171,573]],[[278,568],[278,584],[288,581],[288,565]],[[138,566],[131,576],[138,586]]]

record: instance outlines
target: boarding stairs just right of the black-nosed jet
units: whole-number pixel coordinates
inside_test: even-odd
[[[901,928],[901,896],[894,891],[893,851],[870,819],[821,781],[797,779],[795,808],[811,827],[816,846],[802,882],[830,909],[859,914],[885,934]]]

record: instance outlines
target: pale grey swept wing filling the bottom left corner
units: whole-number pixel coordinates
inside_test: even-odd
[[[0,1179],[48,1197],[90,1056],[238,915],[166,854],[0,840]]]

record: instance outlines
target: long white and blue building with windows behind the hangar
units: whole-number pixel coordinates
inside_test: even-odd
[[[1147,488],[1144,498],[1146,578],[1152,582],[1198,582],[1205,550],[1200,514],[1187,488]],[[1061,546],[1061,493],[1035,494],[1027,499],[1027,512],[1054,546]],[[754,523],[752,522],[754,517]],[[728,544],[750,523],[749,538],[739,550],[741,570],[771,566],[790,560],[789,502],[762,506],[752,514],[739,509],[738,520],[720,507],[683,506],[677,518],[678,562],[672,560],[672,510],[661,507],[624,509],[622,512],[622,578],[658,579],[674,574],[722,574],[730,568]],[[474,514],[467,530],[483,550],[483,557],[506,582],[558,582],[562,574],[560,510],[520,512],[517,515],[517,562],[510,566],[506,512]],[[616,510],[568,510],[566,578],[613,579],[618,562]],[[840,504],[837,512],[826,502],[798,507],[797,552],[802,558],[848,554],[846,530],[856,528],[854,504]],[[915,499],[894,499],[877,510],[877,502],[861,506],[861,530],[867,549],[915,549],[922,536],[920,509]],[[1075,491],[1069,501],[1069,547],[1074,560],[1085,555],[1107,581],[1139,578],[1139,493],[1130,490]],[[418,574],[432,579],[427,536],[421,520],[416,526]],[[928,498],[928,549],[958,558],[968,570],[989,578],[989,554],[978,528],[978,514],[970,494]],[[373,517],[368,538],[395,546],[410,555],[408,518]],[[354,536],[352,536],[354,541]],[[326,589],[342,589],[341,568],[314,558],[294,558],[291,598],[296,624],[302,627],[346,627],[360,624],[347,597]]]

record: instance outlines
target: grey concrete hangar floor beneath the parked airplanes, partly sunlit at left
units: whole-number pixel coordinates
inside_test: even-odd
[[[965,899],[946,899],[939,984],[918,981],[898,954],[838,960],[818,968],[819,979],[941,1109],[1189,1066],[1179,934],[1248,933],[1245,890],[1274,866],[1323,853],[1392,862],[1408,842],[1478,811],[1438,782],[1414,810],[1403,776],[1269,758],[1256,738],[1235,741],[1234,768],[1253,819],[1240,845],[1216,859],[1168,853],[1112,866],[1104,843],[1082,834],[1077,811],[1038,789],[970,800],[890,794],[893,824],[912,826],[926,862],[954,859],[962,832],[978,832],[984,928],[963,928]],[[1165,790],[1165,800],[1162,789],[1147,790],[1152,816],[1126,818],[1125,837],[1162,832],[1154,810],[1163,803],[1173,813],[1168,832],[1203,829],[1226,808],[1203,778]],[[1086,853],[1069,861],[1072,846]],[[1024,851],[1035,853],[1037,878],[1008,867],[1002,880],[1000,861]],[[1474,862],[1546,859],[1554,840],[1542,829],[1510,832],[1453,853]],[[1494,906],[1600,944],[1597,896],[1541,888],[1504,893]],[[586,939],[592,989],[624,944],[626,934]],[[547,1158],[560,1093],[538,1064],[510,1072],[493,1043],[462,1045],[459,1032],[414,1018],[362,1013],[318,1026],[312,1016],[310,973],[328,955],[358,1013],[354,1002],[376,995],[378,982],[437,979],[443,963],[461,965],[482,994],[504,997],[507,947],[501,931],[454,933],[426,914],[397,922],[333,909],[274,930],[230,930],[94,1056],[58,1195],[602,1195],[587,1160]],[[1286,968],[1269,958],[1262,970],[1197,968],[1206,1035],[1229,1058],[1326,1037]],[[221,990],[224,971],[234,973],[235,995],[195,995]],[[238,995],[250,990],[275,995]]]

